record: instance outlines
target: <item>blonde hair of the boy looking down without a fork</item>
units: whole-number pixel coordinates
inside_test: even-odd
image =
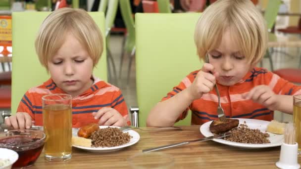
[[[100,29],[86,11],[72,8],[58,9],[42,23],[35,42],[41,64],[48,69],[48,61],[64,43],[67,33],[72,33],[86,48],[95,66],[103,50]]]

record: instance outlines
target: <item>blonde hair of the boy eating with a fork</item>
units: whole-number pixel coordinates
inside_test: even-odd
[[[226,29],[249,63],[262,59],[267,46],[266,23],[250,0],[218,0],[203,12],[195,31],[201,59],[220,45]]]

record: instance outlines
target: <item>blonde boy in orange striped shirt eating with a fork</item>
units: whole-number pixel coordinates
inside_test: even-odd
[[[218,0],[196,25],[198,55],[209,62],[190,73],[153,107],[147,126],[173,126],[192,110],[192,125],[218,119],[218,97],[227,118],[273,119],[273,111],[293,112],[301,86],[256,64],[267,48],[265,20],[250,0]]]

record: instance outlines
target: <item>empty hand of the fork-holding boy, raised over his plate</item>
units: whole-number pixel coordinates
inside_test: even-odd
[[[251,99],[256,103],[259,103],[269,110],[277,110],[278,100],[277,94],[275,94],[271,88],[267,85],[258,85],[251,89],[251,91],[245,96],[246,99]]]

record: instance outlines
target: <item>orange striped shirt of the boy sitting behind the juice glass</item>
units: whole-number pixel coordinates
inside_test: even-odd
[[[33,125],[43,126],[42,96],[47,94],[66,93],[49,79],[38,87],[30,88],[22,97],[17,112],[28,113]],[[128,109],[119,88],[94,77],[94,84],[81,95],[72,98],[72,127],[82,127],[98,123],[92,116],[102,107],[116,109],[130,125]]]

